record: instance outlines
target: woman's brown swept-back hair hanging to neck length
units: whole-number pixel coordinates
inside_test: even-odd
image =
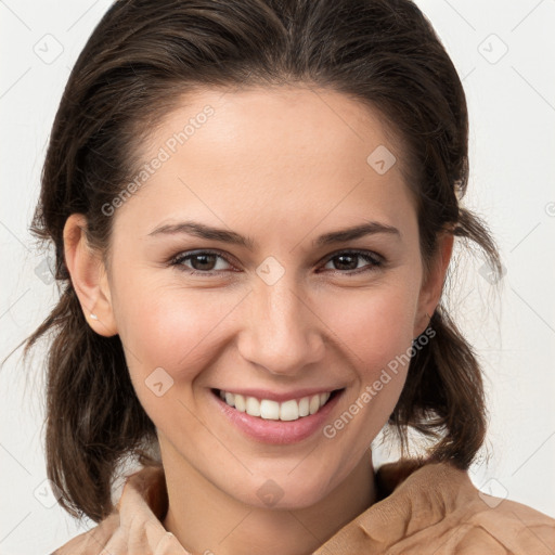
[[[130,382],[119,336],[87,324],[64,261],[70,214],[88,218],[87,238],[109,247],[111,203],[134,175],[139,146],[195,88],[304,85],[373,106],[405,145],[417,202],[425,269],[437,236],[481,247],[501,262],[487,227],[460,206],[468,180],[468,121],[456,70],[421,11],[409,0],[119,0],[89,38],[65,88],[42,171],[31,232],[52,241],[61,295],[30,335],[47,332],[48,477],[72,515],[99,521],[112,509],[118,463],[156,443],[153,423]],[[105,257],[107,261],[107,257]],[[479,363],[439,304],[436,336],[412,357],[390,416],[406,443],[412,427],[435,440],[428,454],[467,468],[483,442]]]

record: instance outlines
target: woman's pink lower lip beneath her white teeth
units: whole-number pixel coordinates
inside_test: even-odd
[[[301,441],[321,429],[344,390],[337,391],[317,413],[296,421],[271,421],[240,412],[210,390],[219,410],[249,438],[262,443],[287,444]]]

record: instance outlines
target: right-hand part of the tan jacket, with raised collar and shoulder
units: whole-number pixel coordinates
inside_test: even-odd
[[[465,470],[449,463],[390,463],[378,469],[376,485],[378,501],[326,548],[391,555],[555,553],[555,519],[482,493]]]

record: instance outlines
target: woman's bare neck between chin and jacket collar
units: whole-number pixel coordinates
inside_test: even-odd
[[[164,462],[169,499],[164,527],[193,554],[309,554],[376,500],[370,450],[330,494],[299,509],[246,505],[177,460]]]

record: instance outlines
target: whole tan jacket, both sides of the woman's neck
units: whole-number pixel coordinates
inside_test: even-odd
[[[380,501],[313,555],[555,554],[555,519],[479,492],[448,463],[386,464],[376,485]],[[191,555],[162,525],[167,503],[162,467],[142,468],[128,478],[109,517],[53,555]]]

